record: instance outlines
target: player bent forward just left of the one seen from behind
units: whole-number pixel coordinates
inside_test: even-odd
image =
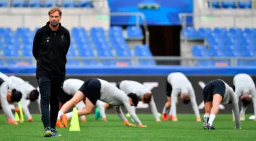
[[[199,108],[195,99],[195,91],[190,81],[183,73],[171,73],[167,77],[167,102],[162,111],[162,119],[165,121],[168,120],[167,110],[171,107],[169,119],[172,121],[177,121],[176,104],[179,95],[184,104],[188,104],[188,102],[191,100],[192,108],[197,117],[197,121],[201,121]]]

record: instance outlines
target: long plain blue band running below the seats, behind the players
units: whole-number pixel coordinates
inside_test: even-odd
[[[34,75],[35,66],[0,66],[0,72],[15,75]],[[237,75],[247,73],[256,75],[255,66],[205,67],[205,66],[66,66],[66,75],[93,75],[93,76],[159,76],[181,72],[185,75]],[[154,81],[150,79],[148,81]]]

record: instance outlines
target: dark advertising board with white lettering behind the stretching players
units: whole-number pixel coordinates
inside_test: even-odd
[[[31,83],[31,85],[37,87],[37,81],[35,79],[35,76],[25,76],[20,75],[18,77],[21,77],[25,81],[28,81]],[[134,81],[139,81],[143,83],[146,87],[149,87],[152,89],[152,94],[154,95],[154,100],[156,102],[156,107],[158,108],[158,112],[162,112],[162,108],[167,100],[166,98],[166,80],[167,76],[158,76],[158,75],[147,75],[147,76],[127,76],[127,75],[121,75],[121,76],[115,76],[115,75],[109,75],[109,76],[67,76],[66,79],[74,78],[74,79],[81,79],[86,80],[89,77],[98,77],[100,79],[104,79],[106,81],[109,81],[113,85],[116,85],[117,82],[122,81],[124,79],[130,79]],[[193,84],[193,87],[195,89],[195,94],[197,97],[197,104],[200,105],[200,113],[203,113],[204,106],[203,104],[203,84],[207,83],[208,81],[211,81],[213,79],[223,79],[225,82],[227,82],[229,85],[232,85],[233,82],[233,76],[225,76],[225,75],[187,75],[188,79]],[[256,79],[256,75],[253,76],[253,79]],[[29,104],[29,100],[28,103]],[[12,106],[13,107],[13,106]],[[35,102],[29,104],[29,110],[31,113],[39,113],[38,106]],[[106,111],[106,113],[115,113],[113,108]],[[150,108],[148,107],[148,104],[139,103],[137,107],[137,113],[151,113]],[[189,104],[183,104],[181,101],[179,101],[179,106],[177,106],[177,113],[194,113],[193,109],[191,108],[190,103]],[[225,106],[224,110],[220,110],[220,113],[229,113],[231,114],[231,104]],[[246,113],[253,113],[253,106],[250,104],[248,106],[248,109],[246,110]]]

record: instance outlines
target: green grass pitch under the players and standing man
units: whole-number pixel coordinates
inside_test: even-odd
[[[0,140],[36,141],[36,140],[256,140],[256,121],[241,121],[242,129],[234,129],[232,115],[217,115],[214,121],[216,130],[204,130],[202,122],[196,122],[195,115],[177,115],[179,121],[156,123],[152,114],[139,114],[145,128],[126,127],[117,115],[106,115],[108,122],[95,120],[94,115],[87,116],[87,122],[81,123],[81,132],[69,132],[68,128],[57,128],[61,137],[42,138],[44,129],[40,115],[33,115],[33,123],[8,125],[5,116],[0,115]],[[128,118],[130,120],[130,118]]]

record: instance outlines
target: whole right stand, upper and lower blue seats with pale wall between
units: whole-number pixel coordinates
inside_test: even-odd
[[[198,66],[255,66],[256,28],[252,0],[197,1],[194,25],[183,26],[184,46]],[[206,4],[206,7],[202,6]],[[200,14],[204,12],[205,15]],[[187,15],[188,17],[191,15]],[[201,20],[199,20],[201,18]],[[189,55],[190,56],[190,55]],[[206,58],[206,59],[205,59]]]

